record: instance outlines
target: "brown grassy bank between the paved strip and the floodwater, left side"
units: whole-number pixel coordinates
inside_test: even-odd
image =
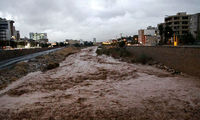
[[[47,71],[59,66],[68,55],[80,51],[80,48],[67,47],[56,52],[38,56],[29,61],[19,62],[16,65],[0,70],[0,89],[17,79],[35,71]]]

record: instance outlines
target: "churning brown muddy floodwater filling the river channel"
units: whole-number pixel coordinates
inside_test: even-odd
[[[200,120],[200,79],[97,56],[68,56],[0,91],[0,119]]]

